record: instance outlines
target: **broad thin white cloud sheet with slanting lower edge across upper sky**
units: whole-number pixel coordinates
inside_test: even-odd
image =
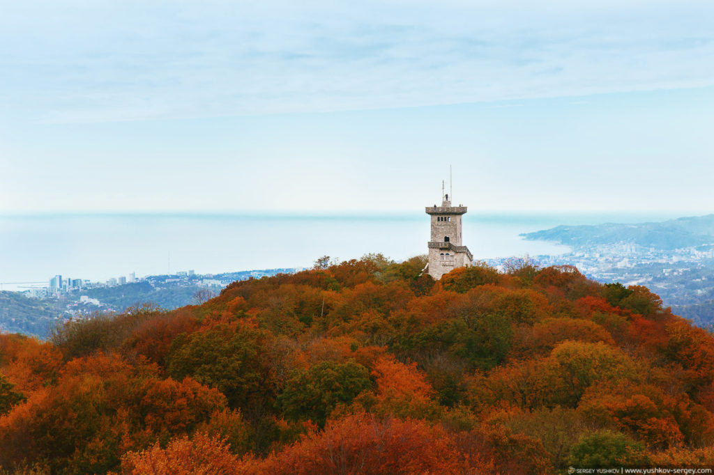
[[[134,121],[714,84],[714,6],[701,2],[323,3],[8,6],[0,114]]]

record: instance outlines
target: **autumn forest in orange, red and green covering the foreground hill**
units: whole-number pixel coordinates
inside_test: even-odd
[[[0,335],[0,473],[714,466],[714,337],[645,287],[366,255]]]

